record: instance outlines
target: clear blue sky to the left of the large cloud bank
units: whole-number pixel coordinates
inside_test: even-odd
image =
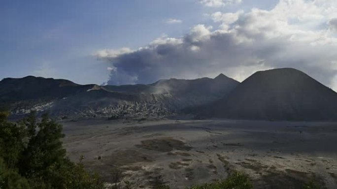
[[[211,23],[203,14],[214,10],[195,0],[1,0],[0,78],[102,83],[107,66],[91,56],[96,50],[138,48],[164,33],[182,36]],[[167,24],[170,18],[183,22]]]

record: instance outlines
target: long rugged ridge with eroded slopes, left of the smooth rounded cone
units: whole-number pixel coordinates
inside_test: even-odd
[[[14,116],[32,109],[55,117],[167,116],[183,108],[221,99],[239,84],[224,75],[215,79],[160,80],[121,86],[79,85],[33,76],[0,81],[0,106]]]

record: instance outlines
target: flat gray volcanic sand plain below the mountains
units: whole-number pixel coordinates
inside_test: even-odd
[[[113,183],[171,188],[244,171],[258,189],[297,189],[315,179],[337,187],[337,124],[237,120],[63,122],[68,156]],[[119,177],[119,176],[118,176]]]

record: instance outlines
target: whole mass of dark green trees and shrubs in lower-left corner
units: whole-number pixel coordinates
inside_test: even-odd
[[[0,112],[0,189],[103,189],[97,174],[73,163],[62,146],[62,125],[32,113],[18,123]]]

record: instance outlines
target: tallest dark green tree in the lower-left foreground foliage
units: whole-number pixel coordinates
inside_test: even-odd
[[[20,172],[39,182],[50,181],[51,176],[64,164],[66,150],[62,146],[62,125],[50,119],[47,114],[36,123],[34,113],[25,121],[30,140],[23,152]],[[35,128],[38,132],[35,134]],[[50,182],[48,182],[50,184]],[[53,186],[50,186],[53,187]]]

